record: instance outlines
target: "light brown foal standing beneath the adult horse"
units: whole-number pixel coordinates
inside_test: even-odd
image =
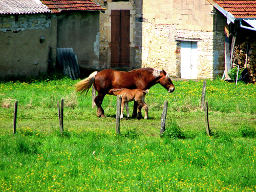
[[[123,118],[123,108],[125,105],[125,109],[127,112],[127,118],[130,117],[129,115],[129,106],[128,106],[128,102],[129,101],[133,101],[135,100],[137,103],[139,103],[140,106],[143,107],[144,111],[145,111],[145,117],[144,119],[148,119],[148,106],[145,103],[145,95],[148,93],[148,89],[143,91],[141,89],[111,89],[108,94],[110,95],[122,95],[122,104],[121,104],[121,115],[120,115],[120,119]]]

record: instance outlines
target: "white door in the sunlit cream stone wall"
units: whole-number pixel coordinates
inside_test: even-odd
[[[197,78],[197,42],[181,41],[181,78]]]

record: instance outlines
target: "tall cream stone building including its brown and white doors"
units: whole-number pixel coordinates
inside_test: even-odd
[[[222,75],[225,25],[230,26],[228,11],[219,9],[220,2],[225,1],[97,0],[106,9],[100,14],[100,69],[153,67],[186,79]],[[116,15],[121,15],[119,20]],[[130,30],[122,24],[129,24]],[[117,33],[124,34],[118,36],[119,42],[113,39]],[[122,56],[116,58],[117,54]]]

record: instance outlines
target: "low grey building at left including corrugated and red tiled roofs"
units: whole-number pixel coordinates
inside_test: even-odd
[[[99,11],[91,1],[0,1],[0,77],[54,70],[57,48],[73,48],[81,71],[97,70]]]

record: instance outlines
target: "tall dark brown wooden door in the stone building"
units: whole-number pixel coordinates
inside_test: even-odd
[[[130,10],[111,10],[111,67],[130,67]]]

